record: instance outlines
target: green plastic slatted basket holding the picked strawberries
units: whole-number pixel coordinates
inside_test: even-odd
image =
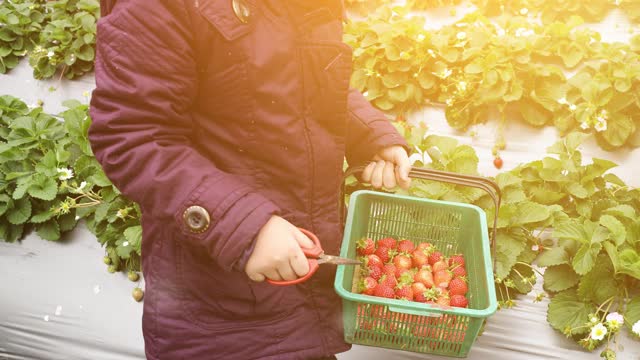
[[[481,188],[491,195],[496,212],[499,209],[500,190],[488,179],[415,168],[411,176]],[[495,224],[493,229],[495,238]],[[387,236],[409,239],[416,244],[431,242],[443,255],[464,254],[469,306],[440,307],[358,294],[352,289],[358,280],[354,276],[358,276],[359,267],[340,266],[335,289],[343,299],[345,341],[466,357],[483,322],[497,309],[484,211],[469,204],[367,190],[351,194],[340,256],[356,258],[356,242],[362,237],[377,240]]]

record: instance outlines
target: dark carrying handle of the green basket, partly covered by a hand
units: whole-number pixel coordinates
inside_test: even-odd
[[[342,186],[340,188],[340,219],[342,223],[345,223],[345,208],[346,204],[344,203],[344,195],[346,193],[346,179],[355,174],[361,173],[365,169],[364,166],[354,166],[352,168],[348,168],[343,176]],[[474,175],[465,175],[452,173],[448,171],[427,169],[427,168],[419,168],[412,167],[411,171],[409,171],[409,177],[420,180],[435,180],[450,184],[456,185],[464,185],[469,187],[474,187],[478,189],[484,190],[489,196],[493,203],[495,204],[495,215],[493,217],[493,229],[491,232],[491,239],[489,241],[489,245],[491,247],[491,259],[493,264],[493,270],[496,268],[496,231],[498,229],[498,212],[500,211],[500,201],[502,199],[502,192],[500,191],[500,187],[493,180],[490,180],[481,176]]]

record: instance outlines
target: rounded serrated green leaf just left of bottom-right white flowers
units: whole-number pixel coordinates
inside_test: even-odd
[[[590,331],[584,324],[589,322],[589,315],[595,310],[595,306],[580,301],[574,289],[565,290],[551,299],[547,321],[560,332],[571,329],[571,335],[583,335]]]

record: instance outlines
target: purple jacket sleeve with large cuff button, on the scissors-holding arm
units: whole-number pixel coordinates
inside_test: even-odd
[[[223,269],[243,270],[255,236],[279,209],[193,146],[192,42],[182,1],[121,1],[102,18],[89,139],[106,175],[145,217],[201,246]],[[189,226],[194,206],[206,210],[207,226]]]

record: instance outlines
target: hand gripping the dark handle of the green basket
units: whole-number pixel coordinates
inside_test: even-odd
[[[411,185],[409,171],[411,163],[407,151],[399,145],[382,149],[362,171],[362,180],[370,183],[374,188],[385,187],[393,189],[399,185],[408,189]]]

